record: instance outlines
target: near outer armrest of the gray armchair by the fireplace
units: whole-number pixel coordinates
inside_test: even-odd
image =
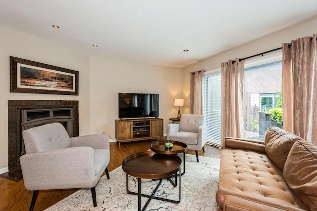
[[[95,151],[91,147],[25,154],[20,164],[27,190],[94,187]]]

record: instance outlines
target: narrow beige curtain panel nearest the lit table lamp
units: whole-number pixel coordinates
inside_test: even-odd
[[[204,70],[189,73],[190,75],[190,113],[203,114],[203,76]]]

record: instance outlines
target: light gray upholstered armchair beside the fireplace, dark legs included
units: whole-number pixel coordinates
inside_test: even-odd
[[[24,186],[33,190],[30,211],[39,190],[91,188],[97,206],[95,186],[110,161],[109,138],[105,134],[69,138],[60,123],[33,127],[22,132],[26,154],[20,157]]]

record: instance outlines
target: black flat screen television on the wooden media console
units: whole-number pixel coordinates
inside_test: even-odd
[[[159,94],[119,93],[119,119],[159,116]]]

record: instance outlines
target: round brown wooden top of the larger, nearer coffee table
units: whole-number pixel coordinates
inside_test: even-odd
[[[122,161],[122,169],[134,177],[160,179],[179,171],[181,163],[182,160],[176,155],[164,155],[146,151],[127,156]]]

